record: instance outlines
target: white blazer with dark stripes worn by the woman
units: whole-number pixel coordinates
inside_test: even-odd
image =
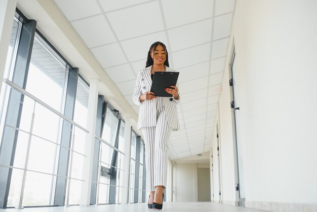
[[[138,129],[141,127],[153,127],[156,126],[156,101],[155,99],[145,100],[140,102],[140,95],[150,91],[152,85],[151,79],[151,68],[152,66],[141,69],[134,87],[134,93],[132,100],[135,104],[140,105]],[[165,66],[166,72],[175,72],[172,68]],[[178,88],[178,83],[176,84]],[[180,96],[178,99],[172,97],[164,98],[164,106],[167,115],[168,125],[173,131],[179,129],[179,122],[177,116],[177,104],[180,102]]]

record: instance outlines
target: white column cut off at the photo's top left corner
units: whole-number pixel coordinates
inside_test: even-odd
[[[0,92],[16,6],[17,0],[0,0]]]

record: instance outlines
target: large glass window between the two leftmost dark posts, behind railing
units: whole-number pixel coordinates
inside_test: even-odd
[[[45,45],[34,38],[26,91],[61,112],[68,70]],[[51,174],[56,174],[57,171],[57,155],[59,154],[57,144],[60,143],[61,118],[41,104],[24,97],[19,127],[26,133],[19,131],[15,165],[19,167],[23,164],[24,168],[24,163],[28,159],[27,169],[47,173],[26,172],[22,205],[52,205],[55,177]],[[29,137],[29,133],[33,135]],[[30,148],[27,157],[28,142],[30,142]],[[11,185],[21,185],[21,176],[17,174],[21,173],[13,172]],[[19,187],[10,187],[8,199],[11,201],[8,201],[8,207],[17,206],[17,197],[21,189]],[[14,190],[15,188],[18,189]]]

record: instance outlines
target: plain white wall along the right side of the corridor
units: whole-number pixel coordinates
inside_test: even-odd
[[[316,8],[236,2],[229,50],[234,38],[246,202],[317,203]],[[228,61],[218,113],[224,201],[235,200]]]

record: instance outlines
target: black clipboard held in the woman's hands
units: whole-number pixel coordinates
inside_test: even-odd
[[[171,88],[170,85],[176,85],[179,72],[154,72],[151,91],[155,96],[172,97],[165,91],[165,88]]]

